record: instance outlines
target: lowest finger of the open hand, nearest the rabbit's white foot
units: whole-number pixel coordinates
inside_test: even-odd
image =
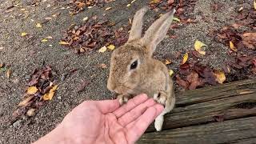
[[[127,130],[127,140],[128,142],[136,142],[138,138],[146,131],[146,128],[150,126],[150,123],[162,113],[163,106],[160,104],[155,104],[148,108],[142,116],[140,116],[136,121],[131,122],[126,126]]]

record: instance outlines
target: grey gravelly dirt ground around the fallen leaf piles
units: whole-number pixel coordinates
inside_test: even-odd
[[[70,16],[70,9],[66,9],[66,1],[2,0],[0,3],[0,63],[9,65],[11,70],[10,78],[6,78],[6,72],[0,71],[0,143],[29,143],[54,129],[72,108],[84,100],[112,98],[106,89],[111,51],[98,53],[94,50],[88,54],[74,54],[73,50],[58,44],[63,32],[72,24],[82,25],[83,18],[91,18],[94,15],[97,15],[98,19],[108,18],[111,22],[116,22],[115,27],[118,28],[122,24],[127,24],[135,11],[149,2],[137,0],[127,7],[129,2],[118,0],[106,3],[102,7],[94,6],[74,16]],[[194,49],[194,41],[198,39],[206,43],[207,51],[210,52],[209,56],[202,59],[202,63],[214,69],[221,69],[224,62],[230,58],[227,54],[229,47],[215,42],[207,34],[211,29],[218,30],[222,26],[234,23],[235,12],[241,6],[248,7],[248,4],[238,5],[235,1],[226,1],[222,3],[222,10],[219,11],[211,10],[213,4],[214,0],[198,0],[191,14],[198,22],[173,30],[178,38],[166,38],[159,44],[155,56],[164,59],[178,51],[185,54],[186,51]],[[112,9],[106,11],[106,7]],[[146,26],[153,22],[158,14],[159,12],[150,10],[146,14]],[[52,19],[46,22],[46,17]],[[37,22],[42,23],[42,28],[35,26]],[[21,37],[22,32],[28,35]],[[53,39],[41,42],[48,36]],[[173,61],[169,68],[177,71],[180,60]],[[52,66],[59,77],[57,94],[53,100],[40,107],[34,117],[24,117],[16,122],[10,122],[11,115],[25,93],[30,74],[35,68],[42,67],[43,63]],[[105,63],[107,68],[99,68],[98,65],[101,63]],[[62,74],[74,69],[77,71],[65,80],[60,80]],[[84,79],[90,80],[91,83],[78,93],[78,87]]]

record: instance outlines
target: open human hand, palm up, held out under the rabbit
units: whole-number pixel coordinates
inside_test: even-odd
[[[162,110],[163,106],[146,94],[123,106],[117,99],[82,102],[35,143],[134,143]]]

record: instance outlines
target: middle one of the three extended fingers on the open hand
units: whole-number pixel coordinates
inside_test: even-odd
[[[154,106],[155,103],[156,102],[154,102],[153,98],[146,100],[146,102],[141,103],[140,105],[136,106],[133,110],[130,110],[126,114],[122,115],[121,118],[118,118],[119,124],[122,126],[128,125],[130,122],[133,122],[139,116],[141,116],[148,107]]]

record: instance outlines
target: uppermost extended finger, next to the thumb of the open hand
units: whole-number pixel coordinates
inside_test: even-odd
[[[146,94],[140,94],[132,99],[130,99],[125,105],[121,106],[118,110],[114,111],[114,115],[119,118],[126,112],[134,109],[134,107],[138,106],[142,102],[147,100]]]

